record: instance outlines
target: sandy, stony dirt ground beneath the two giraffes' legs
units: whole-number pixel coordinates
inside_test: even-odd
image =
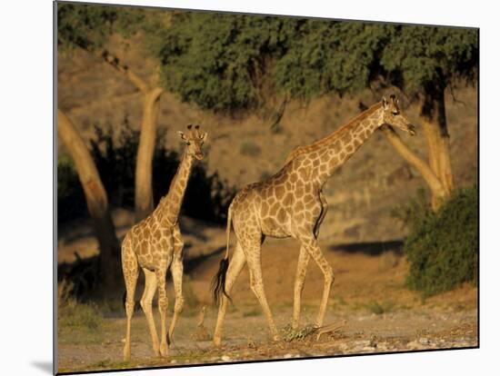
[[[215,327],[216,311],[209,303],[208,289],[221,258],[217,253],[188,268],[185,295],[189,304],[178,322],[168,358],[152,357],[145,316],[137,310],[132,324],[132,360],[122,361],[125,316],[123,312],[112,312],[105,314],[99,330],[59,328],[59,371],[478,346],[475,287],[465,285],[423,300],[418,293],[405,289],[407,264],[396,242],[322,245],[335,272],[325,324],[344,323],[334,333],[326,333],[319,340],[315,334],[292,340],[294,333],[286,326],[292,316],[298,246],[292,240],[270,240],[263,247],[265,292],[281,341],[270,341],[265,317],[248,287],[248,272],[244,270],[232,292],[234,305],[226,316],[223,346],[212,345],[209,336]],[[303,329],[315,321],[322,288],[323,276],[311,264],[303,293]],[[138,290],[142,292],[142,287]],[[203,305],[207,307],[205,332],[197,327]],[[157,313],[155,318],[159,323]]]

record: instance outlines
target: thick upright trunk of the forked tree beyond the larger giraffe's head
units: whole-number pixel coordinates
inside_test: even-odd
[[[450,158],[450,136],[446,125],[445,88],[436,85],[425,90],[420,107],[425,140],[427,142],[429,165],[445,189],[447,199],[453,189],[453,172]],[[443,198],[433,195],[434,206],[440,206]]]

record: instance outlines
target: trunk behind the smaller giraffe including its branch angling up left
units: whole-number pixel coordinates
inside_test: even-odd
[[[135,223],[144,219],[153,211],[153,154],[155,153],[156,122],[159,101],[164,89],[151,87],[127,65],[122,64],[113,54],[103,51],[105,63],[124,74],[143,94],[143,119],[141,135],[135,163]]]

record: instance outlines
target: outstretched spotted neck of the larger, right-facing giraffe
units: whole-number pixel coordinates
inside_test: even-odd
[[[344,164],[365,141],[374,134],[382,123],[383,109],[380,104],[375,104],[357,116],[352,122],[346,124],[339,131],[326,137],[328,142],[311,153],[313,158],[314,176],[323,185],[335,170]],[[315,162],[317,159],[317,162]]]

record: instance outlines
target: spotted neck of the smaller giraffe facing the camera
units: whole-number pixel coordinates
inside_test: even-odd
[[[175,173],[172,183],[170,183],[168,193],[159,205],[162,222],[165,221],[170,224],[177,222],[193,162],[194,157],[185,151],[177,173]]]

